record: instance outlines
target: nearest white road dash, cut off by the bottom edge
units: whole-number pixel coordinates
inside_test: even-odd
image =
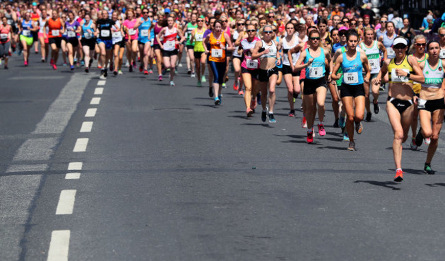
[[[54,230],[51,234],[47,261],[68,261],[68,248],[70,245],[69,230]]]

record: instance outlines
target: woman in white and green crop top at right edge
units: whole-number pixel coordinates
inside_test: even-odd
[[[418,99],[420,129],[416,136],[416,145],[422,145],[424,138],[430,138],[427,160],[424,164],[424,172],[434,174],[431,169],[431,160],[439,142],[439,134],[444,122],[444,64],[440,59],[440,43],[437,40],[429,40],[427,44],[428,59],[420,64],[425,78]]]

